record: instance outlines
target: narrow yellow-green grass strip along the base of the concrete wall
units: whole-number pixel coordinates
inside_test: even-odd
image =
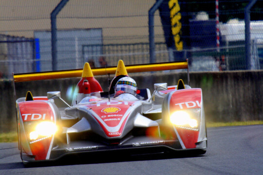
[[[207,122],[207,128],[223,126],[242,126],[242,125],[260,125],[263,121],[235,121],[235,122]],[[16,142],[18,140],[17,132],[0,134],[0,142]]]

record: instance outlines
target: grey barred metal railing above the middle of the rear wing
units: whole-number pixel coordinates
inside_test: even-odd
[[[156,61],[169,61],[164,42],[155,43]],[[150,62],[149,43],[82,45],[83,62],[94,62],[94,67],[103,67],[99,58],[104,58],[108,66],[116,66],[119,59],[128,64]]]

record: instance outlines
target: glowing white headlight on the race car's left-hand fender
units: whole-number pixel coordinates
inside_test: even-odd
[[[49,137],[56,133],[56,125],[51,121],[43,121],[36,126],[35,131],[29,134],[30,140],[36,140],[39,136]]]

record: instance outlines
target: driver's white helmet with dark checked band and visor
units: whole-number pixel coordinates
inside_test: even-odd
[[[129,93],[132,95],[136,95],[137,92],[137,84],[134,79],[130,77],[120,78],[115,86],[115,94],[123,94]]]

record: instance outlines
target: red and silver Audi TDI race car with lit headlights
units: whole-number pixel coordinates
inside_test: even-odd
[[[162,70],[159,65],[127,68],[131,68],[130,72],[138,71],[137,66],[140,70]],[[188,68],[187,61],[165,65],[171,69],[182,65]],[[85,63],[72,104],[62,99],[59,91],[47,92],[44,97],[35,97],[28,91],[26,97],[16,100],[19,150],[24,164],[57,160],[69,154],[112,151],[206,153],[200,88],[191,88],[179,79],[177,85],[156,83],[151,93],[148,88],[137,88],[122,60],[112,69],[115,77],[109,90],[103,91],[89,63]],[[45,79],[49,74],[14,75],[14,81]]]

